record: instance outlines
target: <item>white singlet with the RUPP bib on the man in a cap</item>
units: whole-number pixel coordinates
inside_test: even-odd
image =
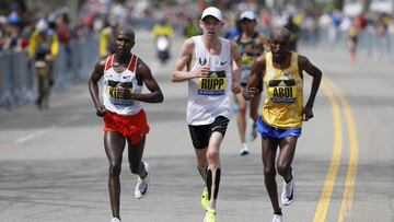
[[[219,56],[207,51],[201,36],[193,37],[195,42],[196,61],[192,70],[201,66],[210,67],[207,78],[195,78],[188,81],[188,102],[186,119],[188,125],[209,125],[218,116],[230,119],[231,116],[231,54],[230,42],[220,38]]]

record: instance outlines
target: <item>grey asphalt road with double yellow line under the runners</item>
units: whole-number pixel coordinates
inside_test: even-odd
[[[181,43],[175,38],[173,58]],[[151,126],[143,157],[151,165],[149,196],[134,198],[137,177],[124,161],[121,219],[202,221],[202,182],[185,120],[187,83],[170,81],[174,59],[161,66],[149,34],[137,32],[135,52],[151,67],[165,98],[144,106]],[[345,50],[301,48],[301,54],[323,70],[324,82],[315,117],[299,139],[296,201],[282,208],[285,221],[393,222],[394,65],[367,56],[349,65]],[[55,93],[48,110],[33,105],[0,110],[0,222],[109,221],[102,122],[86,82]],[[308,85],[305,78],[305,95]],[[247,156],[239,155],[239,147],[233,117],[221,150],[218,221],[270,221],[260,141],[250,142]]]

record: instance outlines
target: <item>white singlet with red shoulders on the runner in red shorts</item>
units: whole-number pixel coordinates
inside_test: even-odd
[[[107,110],[127,116],[135,115],[141,110],[139,101],[120,100],[117,97],[117,86],[121,85],[131,93],[141,93],[142,85],[138,85],[136,78],[137,60],[136,55],[131,56],[127,69],[123,72],[116,72],[113,68],[114,55],[107,57],[103,79],[103,101]]]

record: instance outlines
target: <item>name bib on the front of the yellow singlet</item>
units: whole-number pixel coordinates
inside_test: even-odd
[[[291,80],[270,80],[268,84],[268,94],[273,103],[296,103],[297,90],[296,81]]]

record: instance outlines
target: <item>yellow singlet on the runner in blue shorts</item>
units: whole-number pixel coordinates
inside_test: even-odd
[[[273,127],[290,129],[302,126],[303,81],[299,74],[298,54],[291,52],[290,66],[277,69],[273,54],[266,54],[264,84],[267,93],[263,120]]]

